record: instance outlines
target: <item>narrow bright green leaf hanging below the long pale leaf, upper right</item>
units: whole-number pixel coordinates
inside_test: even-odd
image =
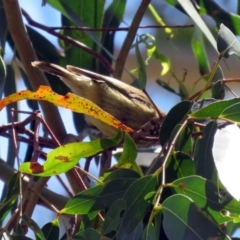
[[[202,32],[198,27],[192,38],[192,50],[198,62],[199,72],[202,76],[210,73],[210,65],[206,53],[205,43],[203,40]]]

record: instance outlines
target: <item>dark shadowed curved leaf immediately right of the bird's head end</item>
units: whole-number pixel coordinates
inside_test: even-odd
[[[170,138],[173,129],[191,109],[190,101],[183,101],[174,106],[165,117],[160,129],[160,144],[163,146]]]

